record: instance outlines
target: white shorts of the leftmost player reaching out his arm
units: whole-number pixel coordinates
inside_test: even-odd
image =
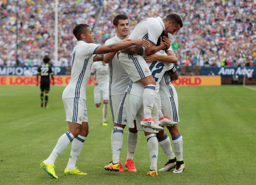
[[[88,122],[86,100],[83,98],[64,98],[66,121],[82,124]]]

